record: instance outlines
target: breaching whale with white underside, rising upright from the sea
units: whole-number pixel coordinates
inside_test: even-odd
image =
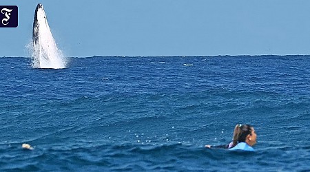
[[[32,45],[33,67],[53,69],[65,68],[65,58],[56,46],[41,3],[37,5],[34,12]]]

